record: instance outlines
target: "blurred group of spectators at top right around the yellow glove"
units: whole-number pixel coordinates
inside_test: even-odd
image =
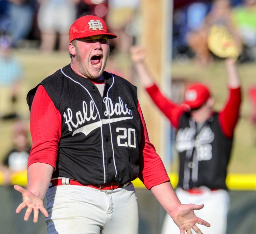
[[[195,58],[205,65],[214,56],[208,49],[209,28],[224,25],[236,38],[241,48],[240,62],[256,59],[256,1],[255,0],[214,0],[174,1],[173,14],[173,58],[184,60]]]

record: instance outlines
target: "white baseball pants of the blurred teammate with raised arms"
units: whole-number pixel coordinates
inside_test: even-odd
[[[202,233],[226,234],[230,200],[226,190],[211,191],[208,188],[204,188],[204,192],[201,194],[191,194],[178,188],[176,194],[182,204],[204,204],[201,210],[194,211],[197,217],[211,224],[210,228],[197,224]],[[192,233],[196,232],[192,230]],[[168,214],[163,222],[161,234],[180,234],[180,229]]]

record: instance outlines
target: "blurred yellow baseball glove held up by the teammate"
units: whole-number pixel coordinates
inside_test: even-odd
[[[224,25],[213,25],[208,34],[208,47],[219,58],[238,58],[238,48],[231,31]]]

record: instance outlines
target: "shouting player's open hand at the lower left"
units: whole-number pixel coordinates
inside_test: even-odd
[[[19,185],[14,185],[14,189],[22,194],[23,202],[19,204],[16,209],[16,213],[19,213],[20,210],[27,207],[24,220],[27,221],[29,219],[30,214],[34,213],[34,223],[38,221],[39,210],[44,214],[45,217],[48,217],[48,213],[44,208],[43,200],[35,195],[34,193],[24,189]]]

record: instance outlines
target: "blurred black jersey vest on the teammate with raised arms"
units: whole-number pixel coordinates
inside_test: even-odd
[[[227,165],[232,142],[233,138],[227,138],[222,132],[218,113],[201,126],[184,113],[176,136],[176,149],[180,155],[178,187],[227,189]]]

